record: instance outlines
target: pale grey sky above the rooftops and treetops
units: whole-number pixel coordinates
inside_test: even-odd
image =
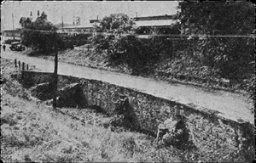
[[[123,13],[130,17],[153,16],[162,14],[176,14],[176,1],[134,1],[134,2],[71,2],[71,1],[36,1],[19,2],[5,1],[1,6],[1,31],[13,29],[12,14],[14,14],[15,28],[20,28],[20,17],[28,17],[32,11],[33,16],[44,11],[48,20],[53,24],[61,23],[61,16],[65,24],[73,24],[73,16],[79,16],[81,25],[88,25],[89,20],[101,20],[110,14]]]

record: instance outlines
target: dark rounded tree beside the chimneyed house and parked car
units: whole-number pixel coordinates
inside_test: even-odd
[[[56,43],[61,43],[56,30],[55,25],[47,20],[47,15],[43,12],[37,20],[24,26],[21,33],[22,42],[40,53],[51,52]]]

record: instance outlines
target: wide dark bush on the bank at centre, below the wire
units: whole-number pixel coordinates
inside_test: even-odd
[[[128,65],[133,73],[147,72],[154,68],[161,56],[172,57],[172,46],[166,38],[121,37],[97,35],[92,38],[97,52],[105,51],[111,65]]]

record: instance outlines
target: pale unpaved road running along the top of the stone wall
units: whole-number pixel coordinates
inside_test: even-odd
[[[2,53],[3,58],[18,59],[28,65],[36,65],[42,71],[53,72],[54,62],[27,57],[20,52],[12,52],[7,48]],[[87,79],[109,82],[122,87],[129,87],[142,93],[152,94],[155,97],[166,98],[181,104],[194,104],[200,108],[218,111],[218,115],[234,121],[243,120],[254,123],[253,102],[247,102],[247,98],[239,93],[230,93],[225,91],[207,92],[198,87],[182,84],[169,84],[159,82],[140,76],[129,76],[107,70],[96,70],[79,65],[69,65],[59,63],[58,74],[67,76],[76,76]]]

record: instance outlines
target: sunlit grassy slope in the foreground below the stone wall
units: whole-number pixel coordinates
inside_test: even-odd
[[[177,161],[157,149],[154,138],[138,132],[112,132],[104,115],[91,110],[52,110],[34,102],[3,59],[1,159],[4,161]],[[25,99],[26,98],[26,99]],[[75,116],[74,116],[75,115]]]

